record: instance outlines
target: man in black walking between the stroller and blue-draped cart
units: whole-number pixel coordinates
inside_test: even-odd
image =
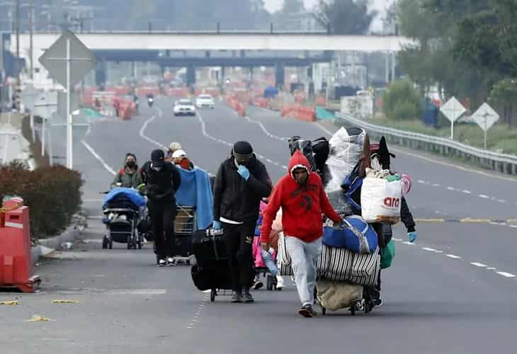
[[[147,187],[147,207],[151,216],[158,266],[174,265],[175,193],[181,184],[176,167],[165,161],[162,150],[153,150],[151,161],[142,166],[142,181]]]

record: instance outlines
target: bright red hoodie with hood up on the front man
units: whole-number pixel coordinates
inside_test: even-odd
[[[309,172],[305,185],[298,184],[292,176],[292,171],[300,167]],[[261,227],[261,242],[269,242],[271,225],[280,207],[284,234],[305,242],[315,241],[323,235],[322,214],[334,222],[341,219],[326,197],[321,178],[310,172],[309,161],[300,151],[292,155],[288,174],[278,181],[269,199]]]

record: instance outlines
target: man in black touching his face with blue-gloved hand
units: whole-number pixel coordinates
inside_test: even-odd
[[[232,302],[253,302],[249,287],[254,278],[251,252],[261,198],[273,186],[249,142],[236,142],[220,166],[214,183],[214,229],[223,227],[227,240],[234,295]]]

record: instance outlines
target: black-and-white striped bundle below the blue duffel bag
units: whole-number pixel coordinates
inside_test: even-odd
[[[321,278],[372,286],[377,282],[380,272],[379,249],[373,253],[360,254],[323,245],[317,268]]]

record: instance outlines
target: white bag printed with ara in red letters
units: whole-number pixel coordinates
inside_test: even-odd
[[[360,195],[365,222],[397,224],[402,203],[401,181],[389,182],[385,178],[366,176]]]

